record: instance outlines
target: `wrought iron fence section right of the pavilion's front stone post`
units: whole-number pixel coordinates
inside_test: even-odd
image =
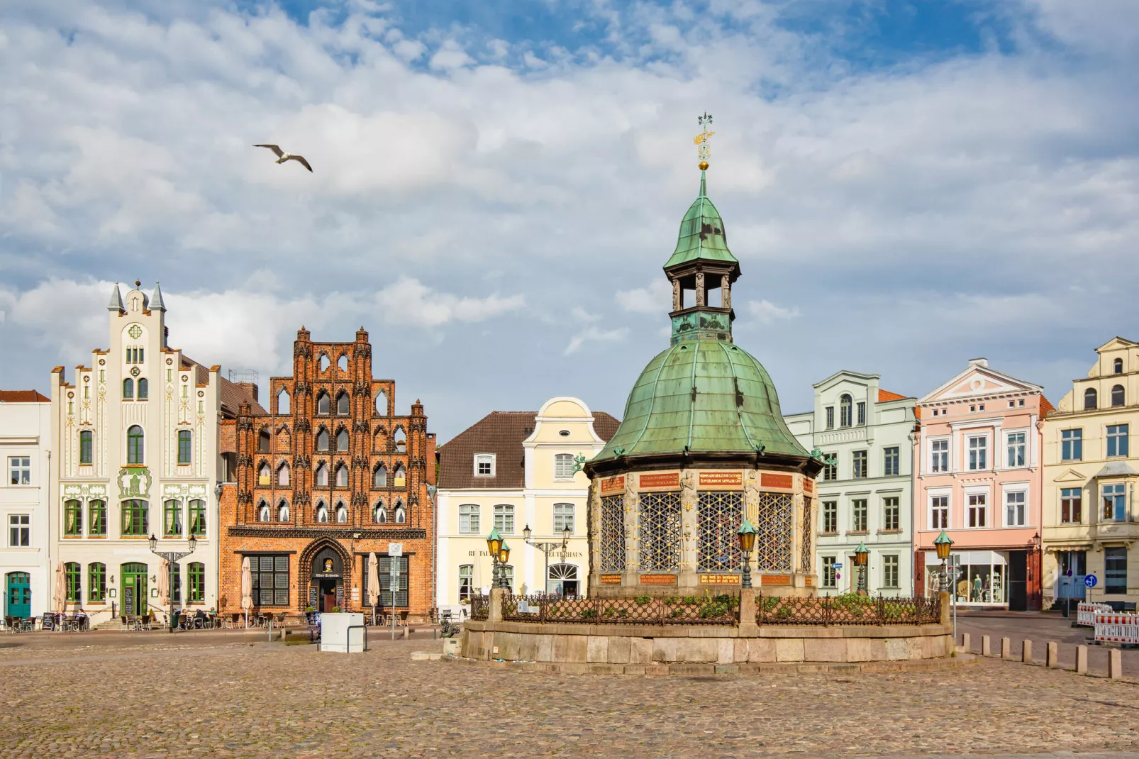
[[[760,595],[755,599],[759,625],[936,625],[941,601],[936,596],[872,598],[847,594],[820,598]]]

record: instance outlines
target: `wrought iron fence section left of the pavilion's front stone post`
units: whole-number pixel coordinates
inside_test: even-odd
[[[513,622],[588,625],[736,625],[735,596],[576,598],[503,596],[502,619]]]

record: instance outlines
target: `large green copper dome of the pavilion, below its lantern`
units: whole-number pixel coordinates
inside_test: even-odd
[[[763,366],[738,345],[698,340],[648,362],[629,393],[621,426],[593,462],[757,449],[809,456],[787,429]]]

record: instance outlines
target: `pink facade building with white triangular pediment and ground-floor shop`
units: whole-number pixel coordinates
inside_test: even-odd
[[[1041,448],[1052,409],[1042,387],[969,366],[917,403],[913,571],[918,593],[941,581],[934,540],[952,539],[959,604],[1040,609]]]

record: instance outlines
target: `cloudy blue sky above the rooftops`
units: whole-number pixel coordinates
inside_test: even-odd
[[[263,389],[301,325],[362,325],[441,442],[555,395],[621,416],[707,112],[736,342],[785,413],[974,357],[1055,403],[1139,340],[1137,64],[1132,0],[8,0],[0,387],[71,381],[140,279]]]

